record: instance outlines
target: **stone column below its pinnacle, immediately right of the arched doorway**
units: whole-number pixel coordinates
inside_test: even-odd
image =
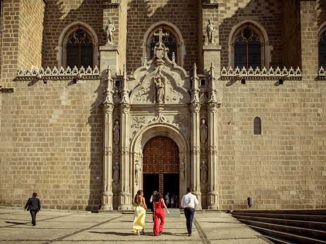
[[[202,208],[200,192],[200,103],[191,104],[191,186],[198,199],[198,207]]]

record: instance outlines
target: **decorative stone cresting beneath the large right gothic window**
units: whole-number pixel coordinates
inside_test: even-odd
[[[262,69],[259,69],[258,67],[256,69],[253,69],[250,67],[249,69],[242,68],[239,69],[239,67],[236,67],[233,69],[230,67],[229,69],[226,69],[223,67],[221,70],[221,77],[222,79],[268,79],[268,80],[274,80],[274,79],[289,79],[289,80],[301,80],[302,79],[302,72],[299,67],[297,67],[295,70],[290,67],[290,69],[283,68],[280,69],[277,67],[276,69],[273,69],[273,67],[270,67],[268,70],[263,67]]]

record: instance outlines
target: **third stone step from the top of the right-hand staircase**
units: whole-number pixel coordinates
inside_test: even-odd
[[[310,229],[310,228],[270,224],[270,223],[251,221],[251,220],[239,220],[239,221],[242,223],[245,223],[247,225],[250,225],[250,226],[261,227],[261,228],[266,228],[266,229],[273,229],[276,231],[288,232],[288,233],[298,234],[298,235],[302,235],[302,236],[311,236],[311,237],[317,238],[317,239],[318,238],[325,239],[325,236],[326,236],[326,231],[314,230],[314,229]]]

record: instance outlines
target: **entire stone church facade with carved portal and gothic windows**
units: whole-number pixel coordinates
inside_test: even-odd
[[[326,3],[2,0],[0,204],[326,207]]]

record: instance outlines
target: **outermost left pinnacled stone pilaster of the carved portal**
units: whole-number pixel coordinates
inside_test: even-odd
[[[105,100],[100,105],[103,110],[103,192],[101,210],[113,210],[112,202],[112,112],[111,69],[107,67],[107,87]]]

